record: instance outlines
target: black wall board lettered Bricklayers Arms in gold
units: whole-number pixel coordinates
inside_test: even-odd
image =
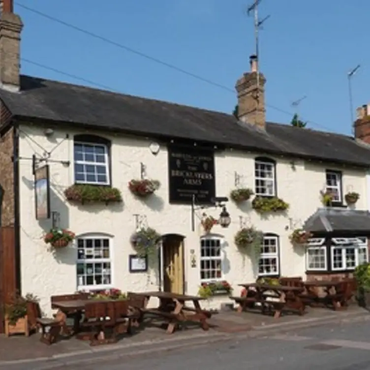
[[[211,203],[215,197],[215,154],[211,149],[168,146],[170,203]]]

